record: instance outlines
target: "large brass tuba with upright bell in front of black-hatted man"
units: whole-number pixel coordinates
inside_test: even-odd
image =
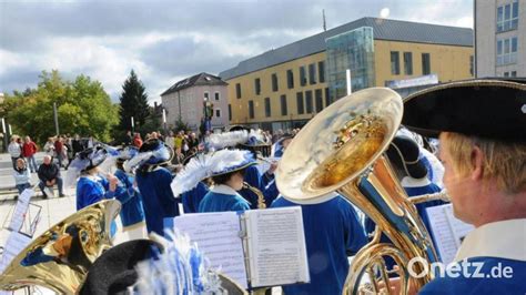
[[[421,278],[408,275],[409,260],[435,262],[437,255],[415,206],[383,155],[402,114],[402,99],[390,89],[355,92],[314,116],[296,134],[277,167],[277,189],[286,199],[300,204],[321,203],[330,197],[327,193],[336,191],[376,223],[373,241],[351,265],[344,294],[357,294],[365,274],[373,292],[384,287],[391,291],[385,256],[398,265],[403,294],[409,283],[419,288],[433,278],[432,274]],[[393,244],[380,244],[381,233]],[[419,273],[422,264],[414,266]]]

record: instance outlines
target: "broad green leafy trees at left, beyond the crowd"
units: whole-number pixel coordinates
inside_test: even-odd
[[[110,140],[110,131],[118,123],[118,108],[99,81],[82,74],[73,82],[64,81],[57,70],[43,71],[40,79],[37,89],[14,91],[6,98],[1,112],[16,132],[39,143],[57,135],[53,119],[53,103],[57,103],[60,133]]]

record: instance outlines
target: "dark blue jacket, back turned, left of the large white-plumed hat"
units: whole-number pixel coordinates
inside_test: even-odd
[[[136,184],[142,195],[148,232],[163,235],[163,218],[179,216],[179,202],[170,184],[172,174],[164,167],[138,172]]]

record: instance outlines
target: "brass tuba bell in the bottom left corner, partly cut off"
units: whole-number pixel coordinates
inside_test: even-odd
[[[75,293],[93,262],[112,246],[110,227],[121,204],[105,200],[53,225],[18,254],[0,276],[0,289],[40,285]]]

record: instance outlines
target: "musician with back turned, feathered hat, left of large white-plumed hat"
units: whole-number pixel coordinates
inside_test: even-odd
[[[170,183],[172,174],[161,164],[170,162],[173,151],[158,139],[144,142],[139,150],[145,162],[135,171],[135,180],[142,195],[148,232],[163,235],[163,218],[179,216],[179,201],[174,197]]]

